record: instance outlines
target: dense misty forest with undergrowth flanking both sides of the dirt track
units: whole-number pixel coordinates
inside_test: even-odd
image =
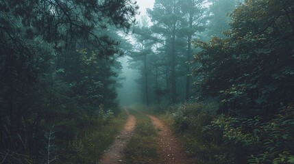
[[[125,122],[123,56],[197,163],[294,163],[294,1],[139,8],[0,0],[0,163],[97,163]]]

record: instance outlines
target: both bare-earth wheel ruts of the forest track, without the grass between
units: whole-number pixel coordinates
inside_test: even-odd
[[[123,131],[121,131],[120,135],[114,140],[110,149],[103,155],[100,163],[106,164],[114,164],[114,163],[123,163],[123,157],[125,154],[123,153],[123,149],[127,145],[130,137],[132,137],[132,133],[136,126],[136,117],[131,115],[127,108],[125,108],[127,113],[127,122]],[[165,126],[158,118],[154,115],[146,114],[141,111],[137,111],[142,115],[146,115],[150,118],[152,124],[156,129],[156,133],[158,133],[158,154],[159,161],[161,163],[170,163],[170,164],[188,164],[191,161],[188,160],[186,154],[182,150],[180,143],[178,143],[175,135],[171,132],[171,130]],[[154,164],[154,163],[153,163]]]

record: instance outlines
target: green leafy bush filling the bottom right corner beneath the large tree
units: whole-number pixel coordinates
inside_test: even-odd
[[[293,163],[293,105],[267,122],[259,116],[245,119],[219,115],[204,127],[204,133],[208,131],[221,131],[223,141],[234,150],[230,158],[235,163]]]

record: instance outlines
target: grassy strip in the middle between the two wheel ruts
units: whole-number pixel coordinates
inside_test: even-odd
[[[130,110],[136,116],[136,127],[124,149],[124,163],[159,163],[157,133],[151,120],[144,114]]]

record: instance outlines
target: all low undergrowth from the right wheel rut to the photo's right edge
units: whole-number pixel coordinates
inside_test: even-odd
[[[195,163],[294,163],[294,107],[271,120],[215,113],[203,103],[175,105],[160,116]]]

